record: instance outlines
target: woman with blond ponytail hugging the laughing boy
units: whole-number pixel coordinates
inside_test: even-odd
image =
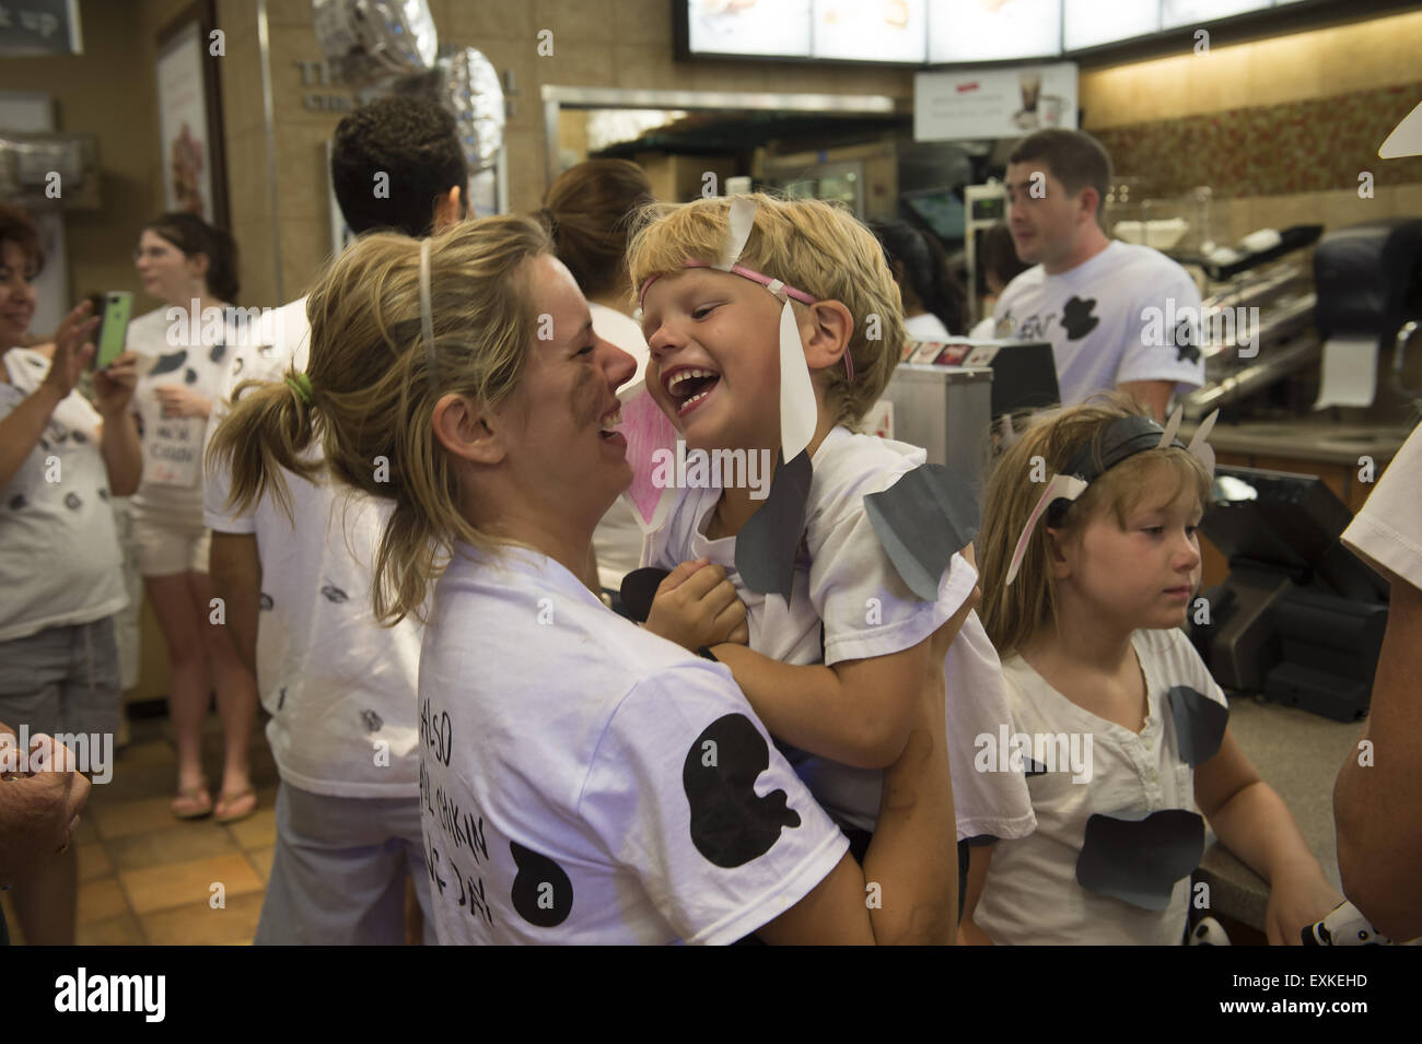
[[[729,672],[583,584],[631,480],[616,389],[634,362],[594,332],[539,223],[367,236],[307,315],[306,372],[239,395],[212,453],[237,510],[280,497],[279,469],[387,503],[371,608],[428,621],[419,810],[439,942],[953,939],[941,678],[862,869]]]

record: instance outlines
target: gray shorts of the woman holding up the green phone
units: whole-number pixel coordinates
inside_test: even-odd
[[[118,732],[114,618],[0,642],[0,722],[30,734]]]

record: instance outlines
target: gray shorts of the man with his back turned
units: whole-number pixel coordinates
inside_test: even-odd
[[[434,946],[419,800],[328,797],[283,783],[257,946],[404,946],[405,875]]]

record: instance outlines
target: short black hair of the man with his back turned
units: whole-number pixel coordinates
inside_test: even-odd
[[[465,192],[468,182],[454,115],[428,98],[377,98],[336,128],[331,185],[357,236],[371,229],[428,236],[435,200],[456,185]]]

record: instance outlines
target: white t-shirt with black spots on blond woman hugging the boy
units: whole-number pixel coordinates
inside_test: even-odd
[[[729,943],[849,847],[727,668],[525,548],[437,584],[419,727],[445,945]]]

